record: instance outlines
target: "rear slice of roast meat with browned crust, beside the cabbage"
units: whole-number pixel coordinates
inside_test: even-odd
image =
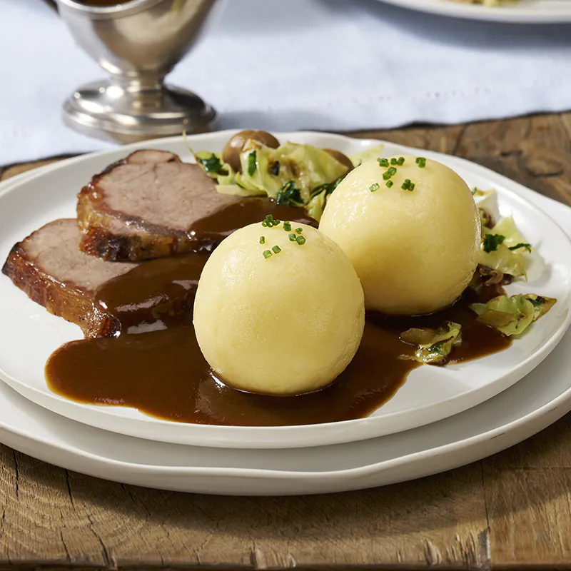
[[[211,250],[216,244],[193,236],[193,224],[240,200],[216,192],[200,166],[173,153],[136,151],[79,193],[80,247],[113,261]]]

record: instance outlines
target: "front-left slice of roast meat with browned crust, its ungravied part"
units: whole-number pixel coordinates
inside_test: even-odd
[[[113,323],[94,305],[95,291],[136,266],[87,256],[79,250],[74,219],[50,222],[11,249],[2,273],[36,303],[76,323],[85,335],[111,335]]]

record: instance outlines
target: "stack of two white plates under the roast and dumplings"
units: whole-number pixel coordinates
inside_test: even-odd
[[[230,133],[191,138],[220,151]],[[323,133],[276,133],[351,154],[378,144]],[[0,185],[0,258],[56,218],[74,216],[76,192],[134,148],[190,159],[181,138],[64,161]],[[571,410],[571,208],[459,158],[385,143],[385,155],[422,154],[470,187],[495,188],[536,248],[527,283],[509,293],[557,298],[530,332],[495,355],[413,370],[368,418],[278,428],[172,423],[130,408],[75,403],[51,393],[44,365],[76,325],[50,315],[0,277],[0,441],[46,462],[121,482],[188,492],[308,494],[385,485],[436,473],[507,448]],[[569,236],[567,236],[569,235]]]

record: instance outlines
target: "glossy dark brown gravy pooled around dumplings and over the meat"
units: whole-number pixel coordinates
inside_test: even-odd
[[[261,203],[244,201],[196,226],[197,235],[216,234],[228,221],[253,213]],[[274,218],[302,222],[298,208],[273,205]],[[236,218],[233,218],[236,217]],[[234,226],[234,222],[231,226]],[[315,225],[315,221],[313,221]],[[238,227],[238,226],[236,226]],[[468,307],[502,293],[501,285],[468,289],[453,307],[415,318],[368,314],[360,348],[348,368],[327,388],[295,396],[245,393],[215,378],[204,360],[192,327],[196,285],[208,254],[146,262],[104,284],[96,305],[121,325],[115,338],[71,341],[46,363],[49,388],[81,403],[122,405],[166,420],[185,423],[280,426],[363,418],[389,400],[419,363],[403,360],[414,348],[399,339],[411,327],[438,328],[460,323],[463,342],[450,363],[503,350],[510,340],[477,322]]]

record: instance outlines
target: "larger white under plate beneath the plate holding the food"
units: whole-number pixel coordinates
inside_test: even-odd
[[[571,209],[526,191],[571,234]],[[0,383],[0,442],[69,470],[133,485],[228,495],[341,492],[450,470],[494,454],[571,410],[571,332],[532,373],[438,423],[298,450],[198,448],[115,435],[50,413]]]

